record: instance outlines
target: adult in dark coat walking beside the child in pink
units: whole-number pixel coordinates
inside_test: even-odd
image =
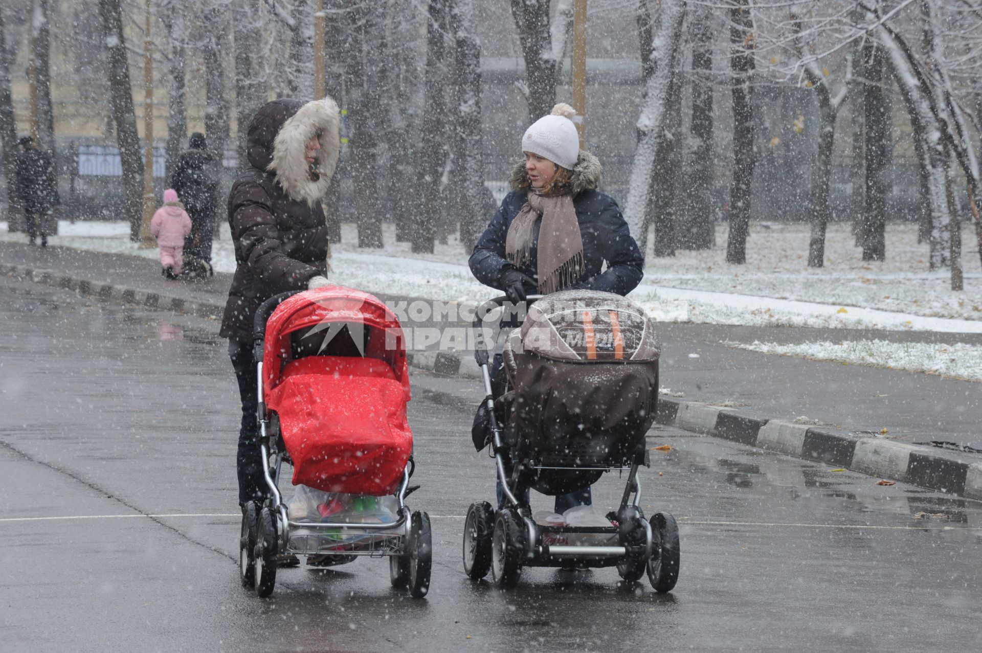
[[[191,217],[191,234],[185,239],[184,253],[208,263],[218,213],[219,170],[218,161],[208,152],[204,135],[195,132],[171,173],[171,188],[177,190]]]

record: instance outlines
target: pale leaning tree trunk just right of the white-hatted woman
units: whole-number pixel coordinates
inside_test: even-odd
[[[625,208],[627,227],[642,255],[648,245],[649,204],[655,192],[656,162],[663,156],[666,146],[671,86],[682,43],[684,18],[684,0],[664,0],[658,26],[651,38],[651,77],[644,86],[641,113],[637,118],[637,146],[630,167]],[[639,21],[639,28],[643,30],[642,26]]]

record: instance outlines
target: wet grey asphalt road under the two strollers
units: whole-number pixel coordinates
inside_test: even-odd
[[[479,390],[422,374],[410,504],[433,518],[429,597],[361,559],[281,571],[258,599],[237,571],[238,396],[217,325],[10,280],[0,319],[0,650],[982,648],[982,505],[670,429],[649,434],[674,449],[652,452],[642,505],[682,522],[675,592],[612,569],[472,583],[463,516],[494,494],[469,442]],[[609,475],[595,503],[622,490]]]

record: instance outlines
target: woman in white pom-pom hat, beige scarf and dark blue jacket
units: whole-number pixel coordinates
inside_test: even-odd
[[[644,258],[620,207],[597,190],[600,162],[579,149],[575,114],[557,104],[525,131],[512,191],[470,255],[477,280],[516,303],[576,288],[627,295],[643,275]],[[493,367],[494,376],[503,373],[501,354]],[[499,482],[499,507],[503,499]],[[556,497],[555,511],[590,503],[587,486]]]

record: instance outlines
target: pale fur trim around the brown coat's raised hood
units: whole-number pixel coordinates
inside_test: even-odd
[[[303,157],[306,143],[320,133],[318,173],[314,181]],[[341,155],[341,111],[330,97],[307,102],[287,119],[273,140],[273,160],[268,170],[291,197],[313,206],[331,186]]]

